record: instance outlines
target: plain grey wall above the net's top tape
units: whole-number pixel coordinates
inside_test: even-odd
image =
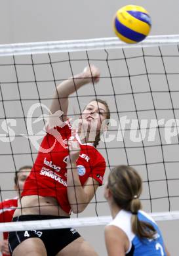
[[[113,37],[111,20],[124,5],[151,14],[151,35],[178,33],[178,0],[1,1],[1,43]]]

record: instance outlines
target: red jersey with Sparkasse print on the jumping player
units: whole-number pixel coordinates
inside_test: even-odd
[[[71,125],[66,121],[62,128],[56,127],[56,132],[60,133],[62,140],[71,137]],[[92,146],[92,144],[81,144],[76,134],[76,139],[80,144],[80,154],[77,159],[77,170],[81,185],[85,184],[89,177],[92,177],[99,184],[102,184],[106,162],[102,155]],[[69,152],[60,143],[60,139],[47,133],[41,142],[41,148],[47,149],[47,153],[39,152],[31,173],[26,179],[24,190],[21,196],[39,195],[56,198],[60,207],[66,213],[70,213],[71,207],[67,194],[67,169],[66,161]],[[48,149],[51,149],[48,152]],[[41,150],[40,150],[41,151]]]

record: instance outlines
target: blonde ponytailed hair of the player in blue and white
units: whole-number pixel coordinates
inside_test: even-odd
[[[138,219],[138,211],[142,208],[139,200],[142,192],[142,179],[136,170],[127,165],[119,165],[112,169],[108,177],[108,188],[114,202],[125,211],[132,213],[132,232],[139,238],[152,239],[156,234],[155,228]]]

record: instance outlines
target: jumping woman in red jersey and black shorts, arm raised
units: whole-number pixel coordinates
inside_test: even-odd
[[[21,209],[16,209],[13,221],[69,218],[71,211],[80,213],[87,207],[102,184],[106,162],[96,146],[100,129],[108,127],[108,104],[104,100],[90,101],[79,117],[77,131],[67,117],[68,96],[99,79],[98,68],[90,66],[57,86],[48,133],[41,142],[22,192]],[[58,125],[53,123],[56,114]],[[94,139],[91,133],[95,133]],[[85,137],[81,139],[81,135]],[[10,232],[9,247],[13,256],[97,255],[74,228]]]

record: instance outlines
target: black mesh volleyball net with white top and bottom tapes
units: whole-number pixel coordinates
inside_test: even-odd
[[[0,45],[1,201],[14,196],[18,168],[37,157],[56,85],[94,64],[100,83],[70,95],[68,117],[77,118],[93,98],[106,100],[111,119],[98,146],[106,158],[104,182],[115,165],[132,165],[143,179],[143,209],[157,221],[178,219],[178,45],[179,35],[150,36],[137,45],[117,37]],[[107,224],[103,189],[71,219],[1,223],[0,230]]]

